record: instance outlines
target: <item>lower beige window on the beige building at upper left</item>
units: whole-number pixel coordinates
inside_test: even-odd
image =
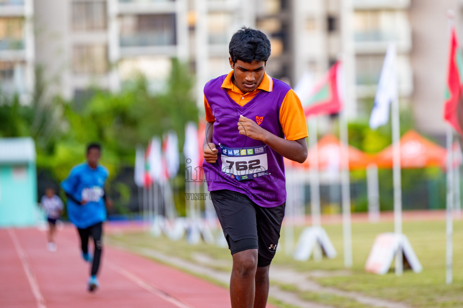
[[[81,44],[73,49],[73,72],[104,74],[108,71],[107,47],[104,44]]]

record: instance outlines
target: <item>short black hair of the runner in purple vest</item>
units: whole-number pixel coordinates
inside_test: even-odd
[[[243,27],[233,34],[228,49],[233,64],[238,60],[266,62],[270,56],[270,41],[261,31]]]

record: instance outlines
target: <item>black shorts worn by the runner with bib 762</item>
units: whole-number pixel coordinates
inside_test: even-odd
[[[231,253],[258,249],[257,266],[269,266],[280,239],[285,203],[262,207],[227,189],[212,191],[211,198]]]

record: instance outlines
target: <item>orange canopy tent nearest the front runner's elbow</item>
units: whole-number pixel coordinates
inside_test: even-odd
[[[341,159],[340,159],[340,141],[334,135],[325,135],[318,142],[318,161],[319,169],[327,170],[331,168],[339,169]],[[359,149],[350,146],[348,147],[349,151],[349,169],[365,169],[366,166],[371,162],[371,157],[360,151]],[[310,168],[310,157],[315,155],[313,148],[309,150],[308,158],[304,163],[296,163],[289,159],[285,158],[285,165],[287,167],[293,168]]]

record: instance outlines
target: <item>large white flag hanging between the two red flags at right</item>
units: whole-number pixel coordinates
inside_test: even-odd
[[[370,128],[376,129],[389,121],[389,106],[394,99],[398,99],[397,72],[395,68],[397,51],[391,43],[386,52],[375,96],[375,105],[371,110]]]

